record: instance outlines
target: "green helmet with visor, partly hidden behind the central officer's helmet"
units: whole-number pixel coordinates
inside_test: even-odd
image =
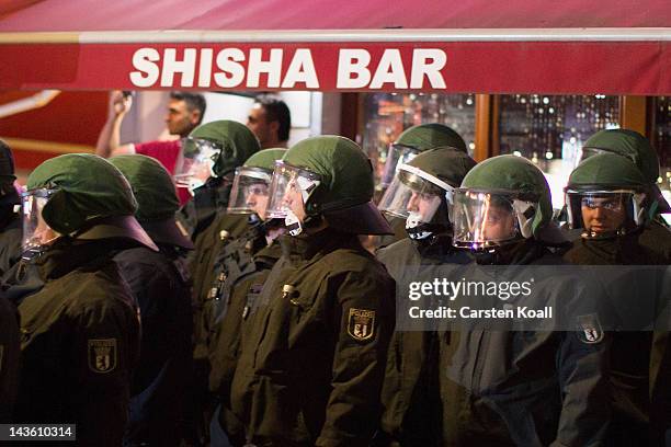
[[[275,162],[281,160],[285,152],[286,149],[282,148],[263,149],[236,170],[228,214],[255,214],[261,220],[265,220]]]

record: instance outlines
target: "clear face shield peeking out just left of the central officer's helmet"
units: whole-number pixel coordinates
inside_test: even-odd
[[[272,173],[261,168],[238,168],[228,199],[229,214],[257,214],[265,220]]]

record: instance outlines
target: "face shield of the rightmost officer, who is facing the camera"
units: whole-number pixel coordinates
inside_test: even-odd
[[[645,222],[645,194],[633,190],[566,190],[569,225],[584,229],[585,239],[606,239],[625,234]]]

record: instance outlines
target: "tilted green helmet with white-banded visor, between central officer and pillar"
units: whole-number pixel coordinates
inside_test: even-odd
[[[406,219],[411,239],[425,239],[451,228],[453,192],[476,162],[467,153],[444,147],[427,150],[399,170],[378,208]]]

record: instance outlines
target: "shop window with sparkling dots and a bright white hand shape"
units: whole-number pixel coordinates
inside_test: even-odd
[[[595,131],[619,127],[619,98],[513,94],[500,96],[499,152],[526,157],[545,173],[553,206],[564,206],[564,186]]]

